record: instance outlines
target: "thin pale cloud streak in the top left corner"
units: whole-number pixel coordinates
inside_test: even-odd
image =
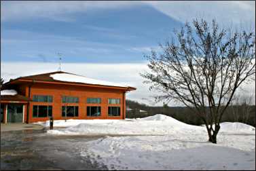
[[[1,1],[1,20],[50,18],[69,22],[75,20],[68,16],[74,12],[112,10],[138,3],[130,1]]]

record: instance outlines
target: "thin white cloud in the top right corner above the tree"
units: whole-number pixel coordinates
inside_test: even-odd
[[[255,1],[148,1],[156,10],[181,22],[216,19],[221,25],[254,26]],[[249,24],[249,25],[248,25]]]

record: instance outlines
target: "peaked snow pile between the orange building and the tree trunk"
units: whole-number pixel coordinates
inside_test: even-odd
[[[79,123],[75,123],[76,126],[70,126],[63,130],[48,130],[48,134],[167,135],[178,132],[179,134],[184,132],[194,134],[195,130],[202,130],[201,127],[182,123],[166,115],[154,115],[143,119],[83,120],[77,122]]]

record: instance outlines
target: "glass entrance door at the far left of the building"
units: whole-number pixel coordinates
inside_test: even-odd
[[[7,122],[23,122],[23,104],[8,104]]]

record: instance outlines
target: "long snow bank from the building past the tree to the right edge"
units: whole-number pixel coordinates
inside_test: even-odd
[[[43,126],[49,126],[49,121],[39,122]],[[70,135],[187,135],[202,134],[206,128],[191,126],[166,115],[153,115],[145,118],[113,120],[92,119],[79,120],[69,119],[54,121],[54,127],[67,127],[65,129],[48,130],[48,134]],[[243,123],[221,123],[220,132],[245,132],[255,134],[255,128]]]

